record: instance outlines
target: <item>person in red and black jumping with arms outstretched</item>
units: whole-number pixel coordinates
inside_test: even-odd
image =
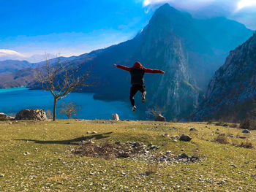
[[[146,101],[146,88],[144,85],[144,74],[145,73],[165,74],[165,72],[158,69],[147,69],[143,67],[138,61],[132,67],[116,65],[116,64],[115,66],[127,72],[130,72],[131,74],[132,87],[129,92],[129,100],[131,101],[133,112],[136,110],[134,96],[138,91],[141,92],[141,101],[143,103]]]

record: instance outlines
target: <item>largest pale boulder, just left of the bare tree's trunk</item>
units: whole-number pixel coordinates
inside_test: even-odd
[[[15,120],[47,120],[47,117],[44,110],[21,110]]]

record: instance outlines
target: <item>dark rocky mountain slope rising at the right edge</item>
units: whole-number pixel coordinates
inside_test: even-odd
[[[196,112],[196,120],[241,120],[255,110],[256,33],[230,51],[225,64],[208,85],[206,99]]]

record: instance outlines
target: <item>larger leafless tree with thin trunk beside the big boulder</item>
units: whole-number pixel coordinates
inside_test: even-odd
[[[62,62],[57,58],[56,64],[50,64],[49,56],[46,55],[45,66],[36,69],[36,78],[45,91],[53,95],[53,120],[56,120],[57,101],[64,99],[72,91],[81,86],[88,87],[86,83],[92,67],[80,74],[82,65],[72,65],[68,61]]]

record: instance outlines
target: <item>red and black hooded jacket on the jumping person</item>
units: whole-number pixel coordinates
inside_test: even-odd
[[[145,73],[161,73],[161,74],[165,73],[158,69],[147,69],[143,67],[139,62],[136,62],[132,67],[122,66],[122,65],[118,65],[117,67],[127,72],[130,72],[132,85],[144,85]]]

